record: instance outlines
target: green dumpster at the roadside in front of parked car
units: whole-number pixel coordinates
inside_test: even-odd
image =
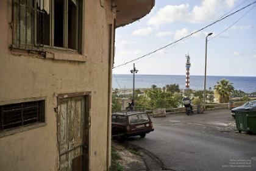
[[[236,110],[235,122],[239,132],[256,134],[256,110]]]

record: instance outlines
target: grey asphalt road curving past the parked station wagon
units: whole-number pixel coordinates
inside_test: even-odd
[[[230,110],[152,121],[155,131],[126,142],[150,152],[162,170],[256,170],[256,134],[238,133]]]

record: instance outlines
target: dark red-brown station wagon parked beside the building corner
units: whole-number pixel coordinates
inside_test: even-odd
[[[153,123],[148,113],[141,111],[121,111],[112,114],[112,136],[127,138],[154,131]]]

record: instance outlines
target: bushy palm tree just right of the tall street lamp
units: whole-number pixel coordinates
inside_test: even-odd
[[[215,89],[215,98],[218,99],[219,103],[229,102],[231,92],[234,91],[233,83],[229,83],[229,80],[226,79],[217,82],[213,89]]]

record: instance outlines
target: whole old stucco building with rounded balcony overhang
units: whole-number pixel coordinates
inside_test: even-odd
[[[0,170],[107,170],[115,27],[154,0],[0,1]]]

